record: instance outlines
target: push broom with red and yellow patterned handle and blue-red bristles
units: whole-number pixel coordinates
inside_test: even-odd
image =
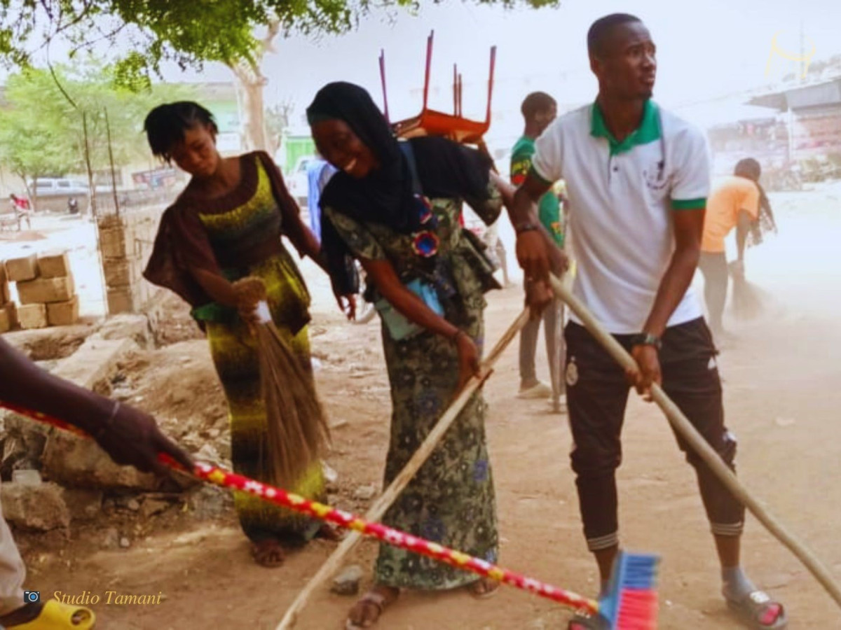
[[[42,423],[50,424],[83,438],[90,436],[69,423],[58,418],[45,416],[24,407],[0,401],[0,407],[19,413]],[[182,465],[166,454],[158,458],[172,470],[185,472]],[[281,488],[264,484],[262,481],[237,475],[219,466],[197,463],[192,471],[200,480],[233,491],[247,492],[274,505],[285,507],[320,521],[331,522],[341,528],[351,529],[357,535],[376,538],[382,543],[405,549],[415,554],[425,555],[438,562],[450,564],[457,569],[471,571],[483,577],[499,580],[537,596],[545,597],[574,610],[584,610],[603,617],[611,630],[649,630],[657,627],[657,594],[654,591],[658,560],[653,556],[638,554],[620,554],[611,580],[610,594],[598,601],[577,595],[528,577],[515,571],[504,569],[483,559],[475,558],[455,549],[448,549],[441,544],[432,543],[410,533],[389,528],[378,522],[370,522],[350,512],[337,510],[318,501],[309,501]]]

